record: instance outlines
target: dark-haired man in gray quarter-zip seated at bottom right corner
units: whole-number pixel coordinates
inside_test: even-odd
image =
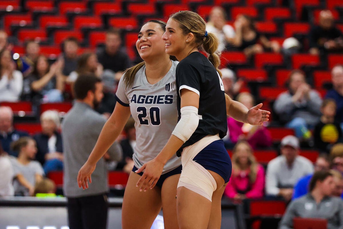
[[[317,171],[310,181],[310,193],[288,205],[282,217],[280,229],[293,228],[293,218],[321,218],[328,221],[328,229],[343,227],[343,201],[331,197],[334,190],[332,174]]]

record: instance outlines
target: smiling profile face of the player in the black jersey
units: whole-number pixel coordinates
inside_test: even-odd
[[[171,56],[177,56],[181,53],[187,46],[187,36],[181,30],[180,23],[169,18],[166,25],[166,32],[162,36],[165,42],[166,53]]]

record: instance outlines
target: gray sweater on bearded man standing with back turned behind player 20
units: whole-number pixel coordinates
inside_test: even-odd
[[[92,173],[92,183],[86,190],[79,188],[76,178],[82,165],[91,154],[106,119],[86,103],[75,102],[62,123],[64,155],[63,192],[67,197],[82,197],[108,192],[107,168],[101,158]],[[110,158],[121,160],[122,150],[118,142],[108,149]]]

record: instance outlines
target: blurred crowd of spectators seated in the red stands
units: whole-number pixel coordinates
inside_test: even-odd
[[[219,51],[241,51],[247,59],[265,52],[287,56],[302,51],[325,56],[343,51],[343,34],[330,10],[319,13],[318,25],[306,35],[306,49],[297,37],[286,39],[283,44],[269,39],[257,30],[254,19],[248,15],[237,15],[229,23],[222,7],[213,7],[206,30],[218,36]],[[1,30],[0,102],[30,101],[36,107],[34,111],[42,103],[73,101],[75,80],[81,74],[93,73],[104,82],[104,98],[97,112],[108,118],[116,104],[119,79],[139,59],[129,57],[125,41],[115,28],[106,32],[104,45],[97,50],[82,51],[84,47],[77,38],[64,39],[63,52],[54,61],[40,52],[39,42],[31,39],[25,42],[25,55],[14,58],[9,40],[7,32]],[[289,66],[289,58],[284,61]],[[239,68],[225,67],[221,69],[222,79],[230,98],[247,108],[263,101],[257,90],[249,90],[249,82],[238,74]],[[235,201],[293,199],[281,222],[281,228],[285,229],[292,228],[294,215],[312,216],[304,215],[304,209],[299,207],[304,202],[313,202],[314,206],[332,203],[337,211],[343,211],[343,202],[332,197],[343,198],[343,60],[327,69],[331,71],[331,82],[324,94],[314,87],[311,72],[303,68],[288,70],[285,90],[269,104],[274,120],[264,126],[251,126],[228,117],[228,133],[224,138],[228,150],[233,149],[232,177],[224,195]],[[14,128],[11,108],[0,107],[0,196],[34,195],[41,192],[37,189],[47,193],[56,190],[45,177],[51,171],[63,169],[61,116],[49,110],[38,119],[42,131],[30,137]],[[268,125],[293,129],[294,136],[275,142]],[[130,173],[136,138],[133,119],[129,119],[120,138],[123,159],[108,163],[108,168]],[[303,147],[320,153],[314,164],[299,155]],[[255,151],[261,149],[278,149],[280,155],[262,163],[255,157]],[[311,214],[320,216],[323,209],[313,208]]]

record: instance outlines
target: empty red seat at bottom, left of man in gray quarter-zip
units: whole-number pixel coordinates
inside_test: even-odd
[[[283,215],[286,210],[284,201],[251,201],[250,216]]]

